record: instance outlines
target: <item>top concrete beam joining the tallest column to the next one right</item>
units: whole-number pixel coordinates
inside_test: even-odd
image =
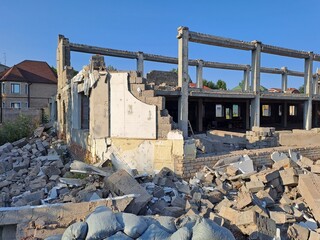
[[[235,48],[241,50],[253,50],[255,49],[255,44],[251,42],[244,42],[239,41],[231,38],[223,38],[217,37],[209,34],[197,33],[197,32],[189,32],[189,41],[220,46],[220,47],[227,47],[227,48]]]

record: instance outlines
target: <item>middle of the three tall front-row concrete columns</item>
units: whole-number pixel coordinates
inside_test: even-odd
[[[260,65],[261,42],[255,41],[255,49],[252,50],[251,64],[251,88],[255,98],[251,100],[251,127],[260,127]]]

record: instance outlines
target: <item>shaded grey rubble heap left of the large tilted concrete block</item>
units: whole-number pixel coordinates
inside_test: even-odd
[[[23,138],[0,146],[0,206],[81,202],[107,197],[103,176],[71,173],[70,164],[67,146],[44,132],[43,127],[37,129],[31,139]]]

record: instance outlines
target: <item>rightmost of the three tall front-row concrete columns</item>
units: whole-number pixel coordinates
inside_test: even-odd
[[[312,128],[312,68],[313,68],[313,53],[310,52],[309,58],[305,59],[304,69],[304,91],[308,96],[308,100],[304,103],[303,127],[305,130]]]

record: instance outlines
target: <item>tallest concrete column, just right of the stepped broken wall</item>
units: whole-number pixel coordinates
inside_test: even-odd
[[[178,125],[183,132],[183,137],[188,138],[188,43],[189,29],[178,28],[178,86],[181,88],[181,95],[178,103]]]

